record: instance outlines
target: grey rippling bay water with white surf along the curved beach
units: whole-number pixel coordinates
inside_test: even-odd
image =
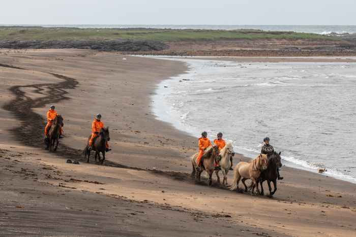
[[[189,71],[158,85],[158,119],[195,137],[221,131],[248,157],[270,137],[283,164],[356,183],[356,63],[170,60]]]

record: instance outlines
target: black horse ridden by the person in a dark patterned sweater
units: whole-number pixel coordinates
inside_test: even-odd
[[[280,167],[282,167],[281,152],[279,152],[279,153],[274,152],[268,158],[268,167],[266,168],[265,171],[261,172],[261,175],[258,179],[258,182],[261,185],[261,195],[264,195],[262,183],[264,181],[267,181],[268,188],[270,190],[270,195],[268,195],[268,196],[273,197],[272,195],[275,194],[275,192],[277,190],[277,178],[278,178],[277,168],[280,168]],[[271,181],[273,182],[273,185],[275,187],[273,192],[271,192],[272,191]],[[258,183],[257,183],[257,188],[258,188]]]

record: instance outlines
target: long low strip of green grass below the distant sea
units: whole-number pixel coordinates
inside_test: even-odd
[[[192,29],[79,29],[0,27],[0,40],[155,40],[161,42],[218,40],[339,40],[337,37],[287,31]]]

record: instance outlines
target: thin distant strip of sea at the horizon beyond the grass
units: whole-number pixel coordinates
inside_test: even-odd
[[[4,25],[13,26],[13,25]],[[14,25],[42,27],[77,27],[77,28],[158,28],[158,29],[261,29],[271,31],[294,31],[328,35],[334,33],[356,33],[356,25]]]

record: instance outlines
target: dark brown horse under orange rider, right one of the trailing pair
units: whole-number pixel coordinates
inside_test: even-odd
[[[89,148],[89,141],[92,136],[89,136],[86,147],[83,150],[84,158],[88,156],[86,162],[89,162],[90,150]],[[105,160],[105,149],[106,149],[106,142],[110,141],[110,134],[109,134],[109,127],[101,128],[99,131],[98,136],[93,139],[93,151],[95,151],[95,162],[97,162],[97,156],[99,156],[99,164],[103,164]],[[100,157],[100,152],[103,154],[103,159]]]

